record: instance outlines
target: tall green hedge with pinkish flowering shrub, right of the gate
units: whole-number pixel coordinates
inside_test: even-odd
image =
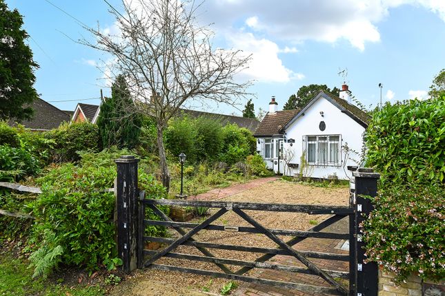
[[[364,224],[368,260],[405,279],[445,276],[445,98],[405,101],[373,116],[367,165],[382,178]]]

